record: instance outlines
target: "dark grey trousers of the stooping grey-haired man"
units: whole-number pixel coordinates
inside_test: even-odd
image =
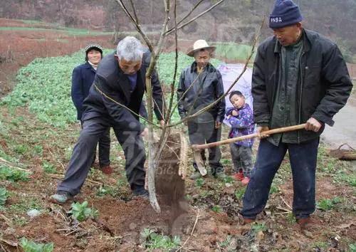
[[[95,117],[83,122],[78,142],[75,144],[65,177],[58,184],[57,191],[66,191],[72,196],[80,192],[90,166],[98,141],[112,127],[125,154],[127,182],[132,190],[145,185],[145,144],[137,131],[123,131],[103,117]]]

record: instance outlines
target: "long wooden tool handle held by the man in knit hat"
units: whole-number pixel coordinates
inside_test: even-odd
[[[305,127],[305,123],[303,123],[302,125],[294,125],[294,126],[288,126],[288,127],[278,127],[276,129],[273,129],[273,130],[263,131],[263,134],[273,135],[273,134],[277,134],[277,133],[290,132],[290,131],[294,131],[294,130],[303,130],[304,127]],[[206,145],[192,145],[192,148],[194,150],[206,149],[206,148],[216,147],[216,146],[219,146],[219,145],[227,145],[227,144],[230,144],[231,142],[237,142],[237,141],[242,141],[242,140],[246,140],[246,139],[251,139],[251,138],[254,138],[254,137],[258,137],[258,133],[253,133],[253,134],[245,135],[245,136],[241,136],[241,137],[229,138],[229,139],[226,139],[226,140],[221,140],[219,142],[211,142],[211,143],[206,144]]]

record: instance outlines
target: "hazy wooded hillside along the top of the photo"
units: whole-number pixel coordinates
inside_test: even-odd
[[[203,1],[194,13],[215,0]],[[204,37],[209,41],[248,43],[268,16],[274,0],[226,0],[198,21],[182,29],[180,38]],[[135,1],[138,15],[146,31],[159,30],[163,19],[161,1]],[[305,27],[328,36],[342,48],[348,62],[356,62],[356,0],[295,0],[305,18]],[[177,13],[187,13],[196,0],[179,1]],[[148,11],[147,11],[148,10]],[[192,16],[194,16],[194,13]],[[132,31],[129,20],[115,0],[17,0],[4,1],[0,17],[31,19],[73,28],[90,28],[100,31]],[[263,28],[263,37],[271,35]]]

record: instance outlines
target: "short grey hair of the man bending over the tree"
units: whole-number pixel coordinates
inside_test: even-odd
[[[125,61],[141,61],[143,54],[142,43],[135,37],[127,36],[117,44],[116,54]]]

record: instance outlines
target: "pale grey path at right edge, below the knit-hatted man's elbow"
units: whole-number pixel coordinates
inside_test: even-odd
[[[356,149],[356,98],[350,98],[345,107],[335,115],[335,125],[326,126],[322,140],[331,147],[339,147],[347,143]]]

